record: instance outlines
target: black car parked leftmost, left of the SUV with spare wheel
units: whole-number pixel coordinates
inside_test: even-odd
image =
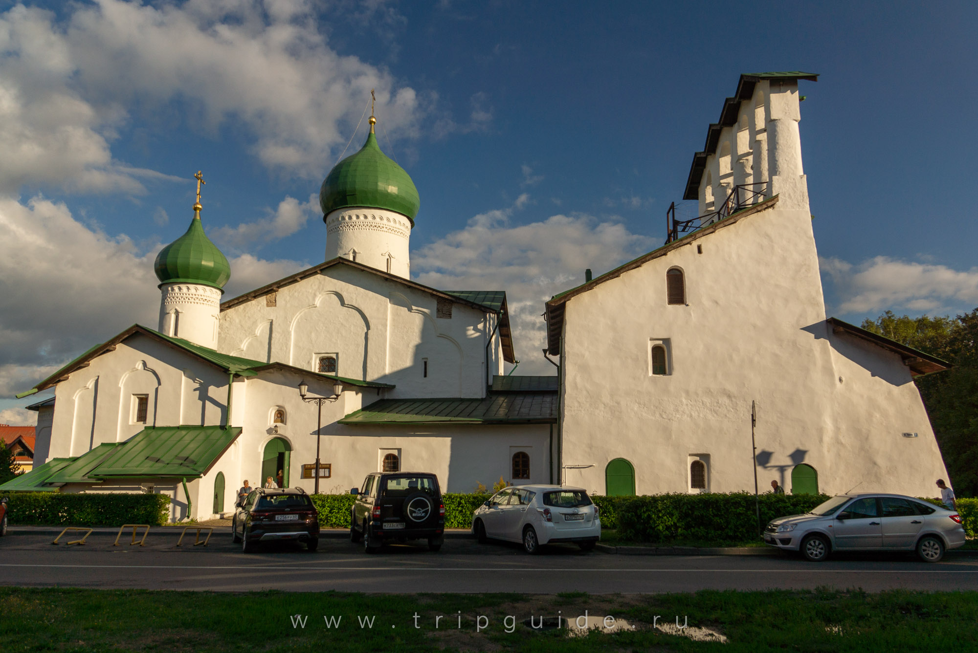
[[[247,553],[263,542],[294,540],[312,552],[319,546],[319,516],[302,488],[255,488],[239,502],[231,539]]]

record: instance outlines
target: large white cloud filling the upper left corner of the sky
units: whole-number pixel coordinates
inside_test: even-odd
[[[141,193],[169,178],[113,159],[140,106],[180,103],[200,131],[235,119],[252,152],[288,175],[321,176],[377,89],[387,132],[417,134],[415,91],[327,45],[310,2],[122,0],[69,5],[64,22],[17,5],[0,14],[0,193],[55,185]]]

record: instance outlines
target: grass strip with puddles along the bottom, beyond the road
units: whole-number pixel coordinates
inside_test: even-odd
[[[585,610],[641,628],[572,638],[566,631],[522,625],[531,616],[573,619]],[[693,641],[650,628],[677,620],[728,641]],[[970,650],[978,640],[978,592],[394,595],[0,588],[0,624],[5,652],[950,651]]]

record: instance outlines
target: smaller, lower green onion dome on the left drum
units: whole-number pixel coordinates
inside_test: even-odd
[[[159,250],[153,268],[160,284],[202,283],[221,289],[231,279],[228,259],[203,233],[200,212],[186,234]]]

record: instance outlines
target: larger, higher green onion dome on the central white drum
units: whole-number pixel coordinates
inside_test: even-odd
[[[324,216],[346,206],[385,208],[408,216],[413,224],[421,198],[404,168],[380,152],[372,124],[360,152],[336,163],[327,175],[319,205]]]

